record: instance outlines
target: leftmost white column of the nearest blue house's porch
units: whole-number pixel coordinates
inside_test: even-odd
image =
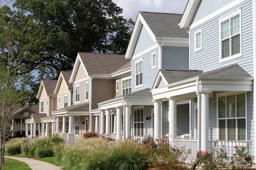
[[[154,101],[154,139],[161,139],[161,101]]]

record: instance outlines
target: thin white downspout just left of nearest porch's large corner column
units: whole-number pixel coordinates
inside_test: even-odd
[[[198,96],[198,150],[201,150],[201,93],[199,79],[196,79],[196,95]]]

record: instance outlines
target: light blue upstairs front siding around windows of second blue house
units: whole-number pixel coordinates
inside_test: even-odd
[[[153,86],[154,80],[156,79],[156,74],[159,71],[159,48],[156,47],[149,52],[144,53],[142,56],[137,57],[132,60],[132,92],[138,91],[146,88],[151,88]],[[156,67],[151,68],[151,55],[156,53]],[[142,73],[142,84],[143,86],[139,86],[135,88],[135,63],[139,60],[142,61],[143,73]]]

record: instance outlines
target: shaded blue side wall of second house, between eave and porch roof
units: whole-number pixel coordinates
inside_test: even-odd
[[[163,47],[163,69],[188,69],[188,47]]]

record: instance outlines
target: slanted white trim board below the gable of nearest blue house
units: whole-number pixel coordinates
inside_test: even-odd
[[[196,1],[196,0],[193,0],[193,1]],[[210,13],[208,16],[201,18],[200,20],[196,21],[195,23],[192,23],[190,25],[190,29],[200,26],[201,24],[205,23],[206,21],[209,21],[211,18],[214,18],[214,17],[220,15],[221,13],[228,11],[228,9],[233,8],[233,7],[237,6],[238,4],[241,4],[243,1],[245,1],[245,0],[235,0],[235,1],[231,2],[230,4],[223,6],[223,8],[219,8],[217,11]],[[194,14],[193,14],[193,16],[194,16]]]

